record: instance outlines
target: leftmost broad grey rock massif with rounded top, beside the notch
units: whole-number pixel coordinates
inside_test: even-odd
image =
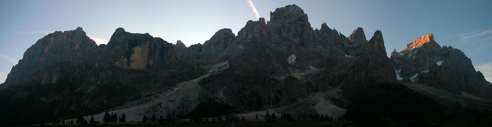
[[[57,83],[98,49],[81,27],[48,34],[24,52],[0,86]]]

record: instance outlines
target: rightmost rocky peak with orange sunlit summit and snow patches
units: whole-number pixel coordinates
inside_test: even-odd
[[[401,80],[408,83],[423,83],[460,94],[467,92],[475,96],[491,99],[492,85],[475,71],[470,58],[451,46],[442,48],[429,33],[407,44],[400,52],[391,53],[391,62]]]

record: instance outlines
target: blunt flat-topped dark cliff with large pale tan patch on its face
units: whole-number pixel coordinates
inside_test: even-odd
[[[129,33],[118,28],[111,38],[101,52],[106,54],[102,64],[146,72],[178,69],[184,64],[171,43],[148,33]]]

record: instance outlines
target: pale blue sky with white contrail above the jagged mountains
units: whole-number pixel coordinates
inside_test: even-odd
[[[381,30],[388,56],[432,32],[492,82],[492,0],[0,0],[0,83],[24,51],[54,31],[80,26],[104,44],[123,27],[190,46],[222,28],[237,34],[257,17],[270,21],[271,11],[289,4],[307,13],[313,29],[326,23],[349,36],[362,27],[368,39]]]

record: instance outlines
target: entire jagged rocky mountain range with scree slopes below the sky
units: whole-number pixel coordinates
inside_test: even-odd
[[[431,33],[388,58],[379,30],[367,40],[361,27],[348,37],[326,23],[313,29],[295,4],[277,8],[270,19],[248,21],[238,35],[220,29],[189,47],[123,28],[99,46],[81,27],[56,31],[31,46],[0,84],[0,113],[57,120],[95,114],[97,120],[114,111],[137,121],[176,112],[184,119],[203,103],[219,103],[239,113],[342,117],[364,96],[408,94],[402,89],[442,98],[436,103],[449,104],[442,109],[450,113],[463,108],[459,103],[492,108],[492,84],[462,51],[441,48]]]

